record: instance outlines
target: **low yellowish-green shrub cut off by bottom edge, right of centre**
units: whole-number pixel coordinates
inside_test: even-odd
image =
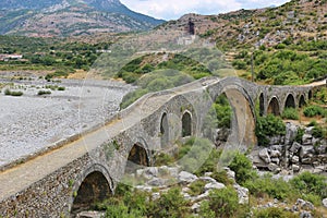
[[[299,215],[295,215],[291,211],[287,211],[283,208],[269,207],[264,209],[256,209],[254,211],[255,218],[298,218]]]

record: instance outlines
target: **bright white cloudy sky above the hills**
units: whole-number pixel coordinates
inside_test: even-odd
[[[131,10],[156,19],[177,20],[185,13],[218,14],[239,9],[280,5],[290,0],[121,0]]]

